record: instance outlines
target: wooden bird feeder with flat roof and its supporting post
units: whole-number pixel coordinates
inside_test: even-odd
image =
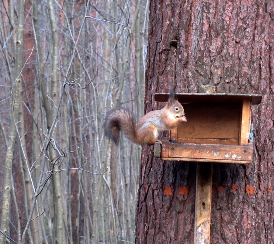
[[[194,243],[210,243],[212,163],[250,164],[251,105],[261,95],[216,94],[213,86],[201,86],[199,94],[177,93],[187,122],[170,131],[169,140],[154,143],[154,157],[197,163]],[[168,93],[156,93],[166,102]]]

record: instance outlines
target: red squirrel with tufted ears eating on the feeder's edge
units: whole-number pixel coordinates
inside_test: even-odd
[[[172,90],[165,107],[148,112],[137,126],[131,111],[118,108],[107,113],[103,128],[105,135],[116,145],[120,141],[121,130],[131,142],[151,145],[156,141],[161,143],[158,140],[159,133],[176,128],[180,122],[186,122],[185,111]]]

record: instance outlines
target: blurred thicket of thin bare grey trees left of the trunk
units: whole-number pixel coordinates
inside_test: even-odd
[[[141,148],[102,124],[144,113],[148,1],[0,9],[0,243],[134,242]]]

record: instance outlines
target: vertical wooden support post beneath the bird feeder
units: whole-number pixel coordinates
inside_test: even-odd
[[[197,163],[194,243],[210,243],[212,163]]]

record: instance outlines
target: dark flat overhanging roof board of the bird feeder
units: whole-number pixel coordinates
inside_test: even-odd
[[[201,93],[176,93],[180,103],[242,103],[243,99],[251,100],[251,104],[259,104],[262,95],[258,94],[201,94]],[[155,93],[154,100],[168,101],[169,93]],[[186,111],[186,110],[185,110]]]

